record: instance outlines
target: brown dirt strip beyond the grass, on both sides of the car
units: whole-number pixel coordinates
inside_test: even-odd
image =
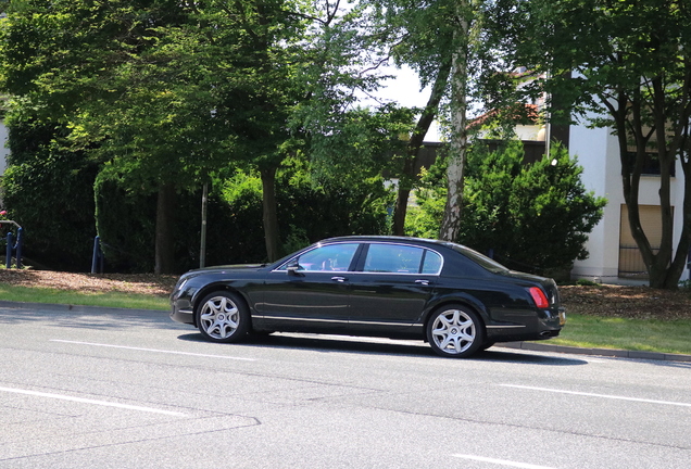
[[[0,269],[0,283],[85,292],[116,291],[167,296],[177,276],[153,274],[71,274]],[[640,319],[691,319],[691,292],[649,287],[565,286],[560,288],[567,313]]]

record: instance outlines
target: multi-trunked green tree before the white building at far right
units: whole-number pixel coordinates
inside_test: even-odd
[[[619,143],[631,233],[654,288],[676,289],[691,248],[691,4],[682,0],[531,0],[513,5],[511,60],[549,74],[537,86],[563,100],[556,117],[586,116]],[[573,76],[573,78],[571,78]],[[594,117],[593,117],[594,116]],[[643,161],[659,162],[662,244],[641,227]],[[670,181],[683,170],[682,229],[673,242]]]

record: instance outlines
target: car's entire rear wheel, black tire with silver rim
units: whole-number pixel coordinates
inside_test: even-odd
[[[437,355],[465,358],[485,344],[485,326],[465,306],[442,306],[427,321],[427,341]]]

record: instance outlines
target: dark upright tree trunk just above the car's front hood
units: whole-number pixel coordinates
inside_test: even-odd
[[[154,274],[175,271],[175,185],[166,182],[159,188],[156,202],[155,263]]]

